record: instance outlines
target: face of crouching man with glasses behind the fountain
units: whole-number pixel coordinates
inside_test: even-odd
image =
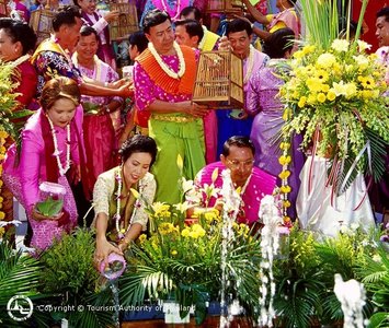
[[[243,186],[254,165],[254,154],[251,149],[231,145],[229,155],[220,155],[220,160],[231,171],[232,183],[237,186]]]

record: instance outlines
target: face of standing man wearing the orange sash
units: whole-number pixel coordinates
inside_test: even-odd
[[[167,20],[163,23],[150,27],[149,34],[146,37],[160,55],[169,54],[173,48],[174,31],[172,23]]]

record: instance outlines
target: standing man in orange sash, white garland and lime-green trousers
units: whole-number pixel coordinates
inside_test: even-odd
[[[134,67],[136,105],[151,113],[149,136],[159,149],[152,169],[157,201],[175,203],[180,201],[178,184],[182,175],[192,179],[205,164],[201,118],[208,109],[191,103],[197,52],[174,42],[169,14],[149,11],[142,28],[149,46]],[[179,155],[183,166],[178,163]]]

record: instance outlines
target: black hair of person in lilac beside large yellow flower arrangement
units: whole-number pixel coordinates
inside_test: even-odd
[[[286,51],[294,47],[295,33],[289,27],[279,28],[266,38],[262,51],[270,58],[284,58]]]

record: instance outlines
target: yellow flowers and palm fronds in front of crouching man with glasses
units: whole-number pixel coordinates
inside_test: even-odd
[[[158,215],[156,215],[158,213]],[[196,323],[204,320],[206,301],[218,300],[221,290],[221,225],[216,212],[206,213],[191,226],[168,204],[155,206],[156,233],[127,254],[127,272],[119,280],[121,302],[142,304],[145,300],[174,298],[180,308],[195,307]],[[259,297],[260,241],[247,225],[233,225],[236,238],[229,245],[226,271],[231,281],[226,294],[255,316]],[[182,311],[185,316],[187,311]]]

